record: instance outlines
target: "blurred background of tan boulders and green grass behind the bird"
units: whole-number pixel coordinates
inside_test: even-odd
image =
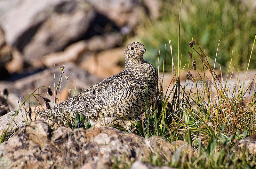
[[[256,3],[249,1],[184,2],[180,53],[186,57],[182,64],[189,61],[188,42],[195,36],[210,58],[215,57],[221,40],[217,61],[223,70],[232,51],[236,64],[232,66],[243,69],[256,32]],[[167,44],[167,72],[170,72],[168,40],[172,40],[175,59],[179,3],[178,0],[0,0],[0,90],[8,90],[10,110],[19,107],[23,97],[40,86],[54,89],[62,65],[65,65],[59,96],[62,101],[68,98],[68,89],[71,96],[76,95],[83,88],[118,73],[124,68],[124,50],[133,41],[144,43],[148,51],[145,59],[152,63],[156,63],[159,50],[160,58],[165,58]],[[255,68],[255,60],[254,50],[251,68]],[[186,73],[183,80],[185,77]],[[40,89],[38,93],[46,95],[47,90]],[[53,96],[50,99],[54,100]]]

